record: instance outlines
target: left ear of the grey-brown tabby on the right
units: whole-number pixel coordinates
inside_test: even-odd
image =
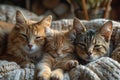
[[[75,29],[76,33],[84,33],[86,31],[86,27],[80,22],[78,18],[74,18],[73,28]]]

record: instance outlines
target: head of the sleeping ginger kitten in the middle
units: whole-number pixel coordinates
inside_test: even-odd
[[[57,31],[46,28],[45,51],[55,58],[63,58],[74,51],[74,31]]]

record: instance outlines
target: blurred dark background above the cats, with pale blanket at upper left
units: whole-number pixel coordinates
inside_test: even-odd
[[[120,0],[0,0],[0,19],[14,20],[17,9],[36,20],[47,15],[52,15],[53,20],[74,17],[120,20]]]

